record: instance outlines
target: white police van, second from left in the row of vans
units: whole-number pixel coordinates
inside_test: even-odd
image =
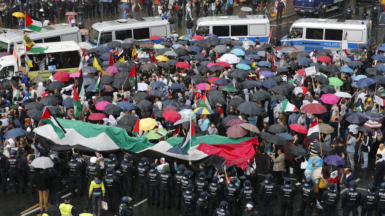
[[[85,42],[97,46],[126,38],[146,41],[154,35],[171,37],[169,22],[160,17],[143,17],[95,23]]]

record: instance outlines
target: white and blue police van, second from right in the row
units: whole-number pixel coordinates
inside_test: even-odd
[[[240,41],[267,42],[270,33],[270,23],[266,15],[239,15],[201,17],[196,21],[194,35],[203,37],[214,34],[219,38],[239,38]]]

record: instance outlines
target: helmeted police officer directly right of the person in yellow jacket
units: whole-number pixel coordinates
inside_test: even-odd
[[[105,170],[105,176],[103,177],[103,184],[105,187],[105,197],[107,198],[108,210],[116,211],[117,195],[120,190],[120,181],[117,176],[114,175],[114,169],[111,167]]]

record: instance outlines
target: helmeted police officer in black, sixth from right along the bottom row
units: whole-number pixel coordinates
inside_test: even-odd
[[[293,215],[293,201],[295,196],[295,188],[291,186],[291,179],[285,178],[284,185],[280,187],[281,193],[281,216],[285,216],[288,209],[288,216]]]

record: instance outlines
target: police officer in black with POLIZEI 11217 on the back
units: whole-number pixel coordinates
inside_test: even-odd
[[[171,185],[172,185],[172,175],[170,174],[170,166],[164,165],[162,168],[161,174],[158,177],[159,181],[159,190],[160,190],[160,199],[161,199],[161,208],[163,209],[166,205],[166,208],[169,208],[170,204],[170,195],[171,195]],[[179,202],[178,202],[179,203]]]

